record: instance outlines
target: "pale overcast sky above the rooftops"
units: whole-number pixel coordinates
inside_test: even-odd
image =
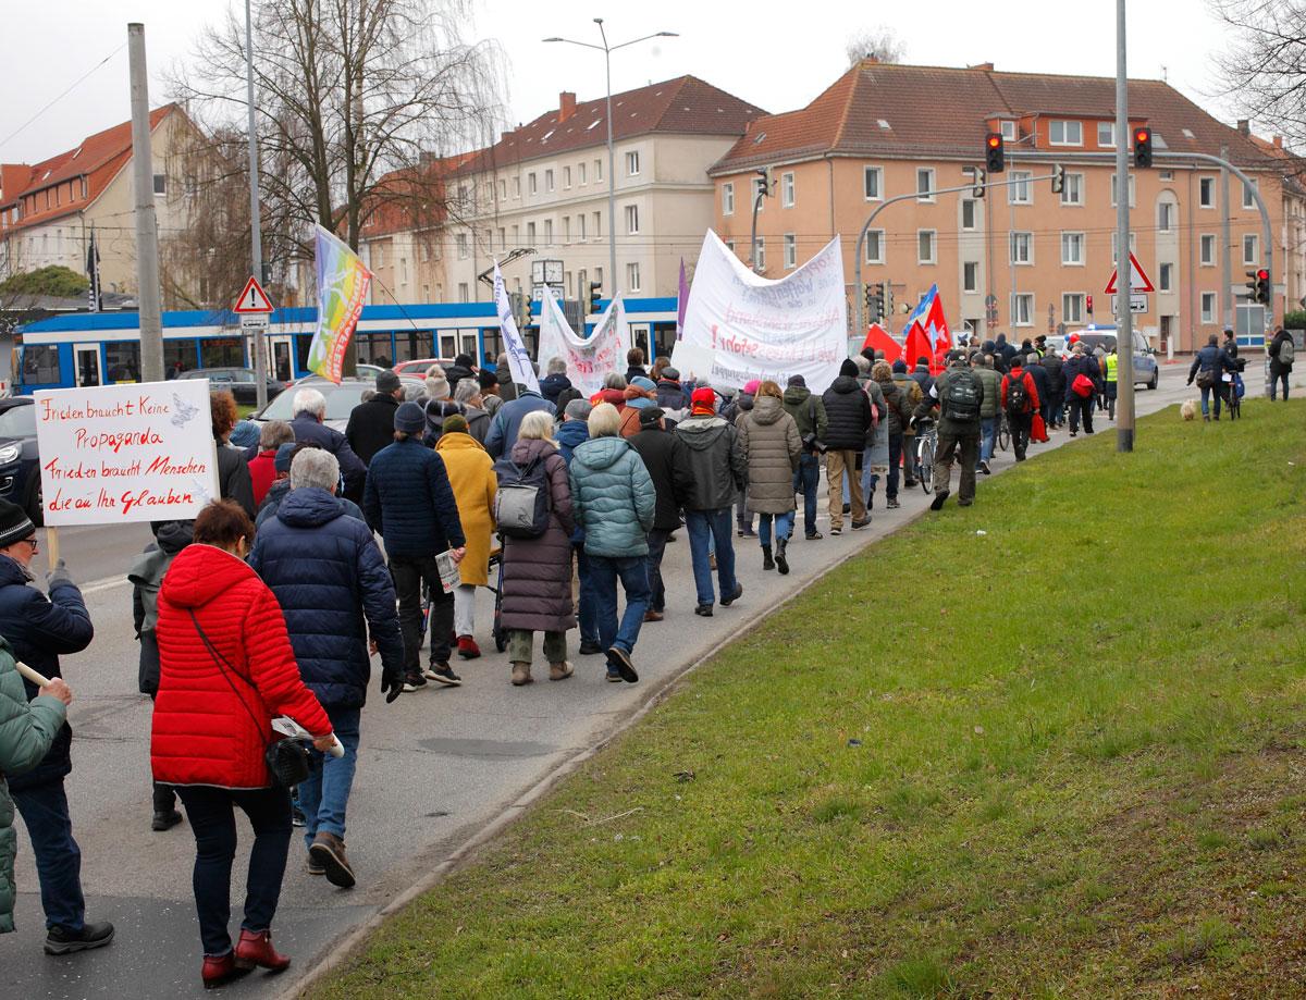
[[[0,0],[0,9],[17,1]],[[159,70],[185,60],[196,33],[227,7],[229,0],[24,4],[21,42],[10,39],[5,46],[0,77],[0,162],[35,162],[127,120],[129,21],[145,23],[150,99],[163,103],[167,94]],[[602,97],[601,52],[541,43],[549,35],[597,42],[596,16],[606,18],[614,44],[653,31],[680,35],[614,55],[614,91],[692,73],[777,112],[802,107],[844,72],[848,37],[883,23],[872,13],[859,20],[858,8],[872,7],[883,10],[891,5],[849,0],[661,0],[639,5],[479,0],[469,34],[498,39],[503,47],[513,121],[529,121],[556,107],[562,90],[575,90],[581,101]],[[1131,0],[1130,8],[1130,74],[1166,77],[1218,117],[1235,117],[1237,108],[1215,93],[1213,67],[1224,35],[1202,0]],[[905,43],[905,63],[961,67],[991,61],[1007,70],[1115,73],[1113,0],[1081,0],[1074,7],[1028,0],[927,0],[900,9],[927,14],[889,22]],[[12,16],[8,20],[14,23]],[[106,56],[108,61],[93,70]],[[93,72],[67,97],[42,110],[88,70]],[[24,127],[34,116],[35,121]]]

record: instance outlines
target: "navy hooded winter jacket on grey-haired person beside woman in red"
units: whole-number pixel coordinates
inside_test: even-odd
[[[367,525],[326,490],[291,490],[249,554],[249,565],[277,595],[299,675],[324,708],[362,708],[371,661],[404,670],[394,584]],[[364,623],[366,619],[366,623]]]

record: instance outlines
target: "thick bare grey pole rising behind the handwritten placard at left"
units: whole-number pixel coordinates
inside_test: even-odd
[[[150,87],[145,72],[145,25],[127,26],[132,95],[132,175],[136,183],[136,285],[141,320],[141,381],[163,381],[163,309],[159,304],[159,230],[154,218],[150,157]]]

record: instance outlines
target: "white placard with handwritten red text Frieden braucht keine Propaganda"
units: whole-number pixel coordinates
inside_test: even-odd
[[[218,496],[209,383],[34,393],[46,523],[188,521]]]

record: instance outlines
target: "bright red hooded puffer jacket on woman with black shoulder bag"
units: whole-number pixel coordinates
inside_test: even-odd
[[[242,560],[214,546],[188,546],[163,577],[158,607],[159,692],[150,740],[155,781],[265,789],[272,781],[263,755],[273,718],[290,715],[315,736],[332,731],[299,679],[277,598]],[[191,611],[240,676],[213,661]]]

